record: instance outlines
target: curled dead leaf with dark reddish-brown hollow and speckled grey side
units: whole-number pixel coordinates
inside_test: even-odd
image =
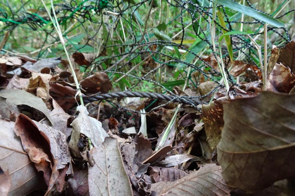
[[[44,180],[48,185],[47,194],[52,191],[54,185],[58,192],[61,192],[66,172],[71,174],[72,171],[65,135],[23,114],[18,116],[14,130],[37,170],[44,172]]]

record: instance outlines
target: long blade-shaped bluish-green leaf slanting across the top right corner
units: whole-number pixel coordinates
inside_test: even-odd
[[[243,6],[242,4],[239,4],[235,1],[231,1],[231,0],[217,0],[217,3],[220,5],[223,5],[225,7],[228,7],[230,9],[233,9],[235,11],[241,12],[243,14],[246,14],[247,16],[251,16],[255,19],[258,19],[260,21],[266,22],[270,25],[273,25],[275,27],[284,27],[285,24],[283,24],[281,21],[268,16],[267,14],[264,14],[262,12],[259,12],[255,9],[252,9],[250,7],[247,6]]]

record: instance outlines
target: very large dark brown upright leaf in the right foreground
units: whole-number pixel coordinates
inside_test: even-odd
[[[217,159],[229,186],[255,191],[295,177],[295,95],[266,91],[223,110]]]

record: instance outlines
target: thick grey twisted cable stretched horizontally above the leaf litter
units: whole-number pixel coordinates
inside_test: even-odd
[[[187,97],[176,97],[173,95],[165,95],[160,93],[148,93],[148,92],[135,92],[135,91],[122,91],[114,93],[104,93],[104,94],[95,94],[91,96],[84,96],[84,103],[91,103],[99,100],[113,99],[113,98],[123,98],[123,97],[141,97],[141,98],[151,98],[151,99],[161,99],[166,101],[173,101],[178,103],[184,103],[188,105],[193,105],[196,107],[199,104],[203,104],[200,100],[191,99]]]

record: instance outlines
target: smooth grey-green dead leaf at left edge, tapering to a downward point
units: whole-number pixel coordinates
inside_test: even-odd
[[[26,91],[19,89],[4,89],[0,91],[0,97],[6,98],[6,102],[13,103],[15,105],[28,105],[32,108],[40,110],[45,116],[54,124],[52,118],[49,115],[47,107],[41,98],[32,95]]]

